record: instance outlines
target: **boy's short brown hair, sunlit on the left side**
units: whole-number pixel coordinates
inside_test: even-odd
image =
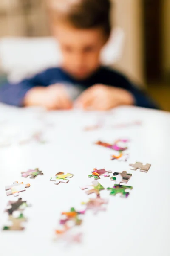
[[[101,27],[111,33],[110,0],[47,0],[53,22],[65,21],[77,29]]]

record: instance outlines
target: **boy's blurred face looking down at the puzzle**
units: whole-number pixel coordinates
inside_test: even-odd
[[[62,52],[62,67],[76,79],[86,79],[100,65],[100,52],[106,43],[101,28],[76,29],[59,23],[54,36]]]

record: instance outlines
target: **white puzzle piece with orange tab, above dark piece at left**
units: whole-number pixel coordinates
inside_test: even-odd
[[[14,181],[12,185],[5,186],[6,195],[18,196],[19,192],[26,191],[26,188],[29,188],[30,186],[30,184],[24,185],[23,182],[18,183],[17,181]]]

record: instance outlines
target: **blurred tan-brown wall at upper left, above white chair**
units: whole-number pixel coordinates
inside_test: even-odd
[[[0,36],[49,35],[44,0],[0,0]]]

